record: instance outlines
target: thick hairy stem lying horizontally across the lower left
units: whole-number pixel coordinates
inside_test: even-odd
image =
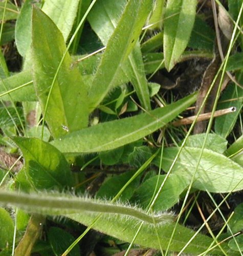
[[[29,195],[0,190],[0,203],[14,205],[30,212],[49,215],[74,214],[80,211],[101,212],[131,216],[151,224],[168,223],[174,219],[173,215],[169,213],[153,216],[135,206],[120,203],[111,204],[86,197],[46,194],[45,192]]]

